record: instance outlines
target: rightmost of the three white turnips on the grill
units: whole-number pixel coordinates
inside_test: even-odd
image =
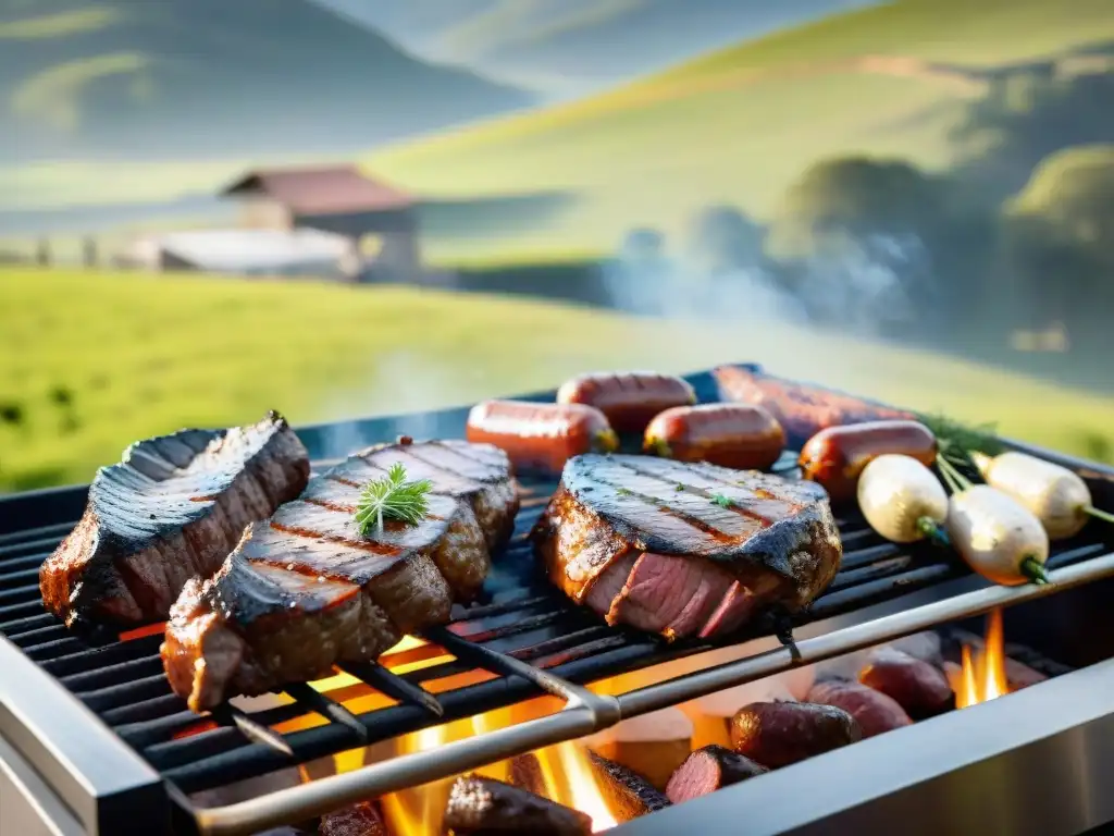
[[[1087,484],[1066,467],[1016,451],[994,458],[975,453],[971,460],[988,485],[1036,514],[1049,539],[1078,534],[1092,516],[1114,522],[1114,515],[1091,504]]]

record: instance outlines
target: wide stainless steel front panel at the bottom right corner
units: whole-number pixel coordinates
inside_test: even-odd
[[[1114,822],[1112,774],[1114,660],[725,787],[613,833],[1074,836]]]

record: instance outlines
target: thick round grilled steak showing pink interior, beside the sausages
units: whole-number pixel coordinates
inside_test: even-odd
[[[842,555],[817,485],[643,456],[571,459],[531,536],[574,601],[668,639],[799,610]]]

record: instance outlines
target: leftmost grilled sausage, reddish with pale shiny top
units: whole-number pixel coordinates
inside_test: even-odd
[[[583,404],[486,400],[468,414],[465,437],[501,448],[516,470],[555,474],[574,456],[618,449],[604,414]]]

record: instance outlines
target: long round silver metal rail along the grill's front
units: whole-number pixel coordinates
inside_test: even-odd
[[[405,755],[240,804],[197,810],[197,829],[206,836],[246,836],[266,827],[304,820],[345,804],[448,778],[553,743],[575,740],[614,725],[620,717],[655,711],[793,667],[811,664],[948,621],[1033,601],[1111,576],[1114,576],[1114,553],[1052,572],[1051,583],[1046,585],[981,586],[911,609],[897,610],[889,615],[862,620],[799,641],[797,648],[800,655],[797,659],[788,648],[776,648],[620,694],[617,697],[619,712],[600,715],[570,706],[539,720],[478,735],[432,751]],[[862,616],[861,613],[859,615]]]

